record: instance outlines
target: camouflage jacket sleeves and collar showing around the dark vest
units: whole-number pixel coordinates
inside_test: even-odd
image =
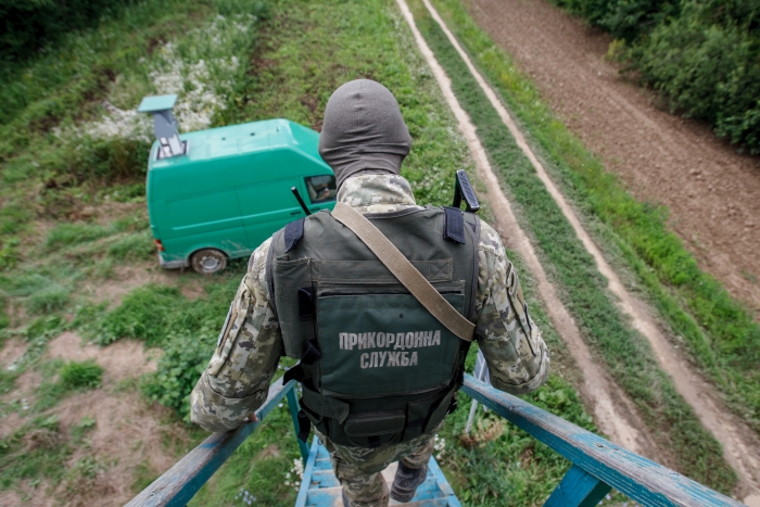
[[[400,176],[359,175],[347,179],[338,201],[360,213],[390,213],[417,207],[409,183]],[[219,343],[208,368],[191,394],[192,421],[208,431],[237,428],[265,401],[283,355],[279,324],[266,283],[266,258],[271,239],[251,255]],[[492,384],[525,394],[548,377],[549,356],[541,331],[528,317],[528,329],[510,305],[524,307],[520,281],[502,241],[482,223],[478,248],[476,338],[489,364]],[[509,279],[509,280],[508,280]],[[511,290],[509,290],[511,288]],[[530,343],[529,343],[530,341]]]

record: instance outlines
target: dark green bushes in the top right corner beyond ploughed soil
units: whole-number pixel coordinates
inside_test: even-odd
[[[760,153],[760,9],[752,0],[554,0],[608,30],[673,112]]]

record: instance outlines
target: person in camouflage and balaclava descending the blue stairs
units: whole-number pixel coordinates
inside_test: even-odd
[[[303,385],[302,436],[313,424],[346,507],[387,506],[380,472],[396,460],[390,496],[411,499],[472,339],[499,390],[529,393],[549,372],[498,235],[473,214],[415,203],[398,175],[410,145],[385,87],[358,79],[335,90],[319,139],[335,210],[288,225],[253,253],[192,392],[192,420],[229,431],[255,420],[280,356],[300,359],[288,377]]]

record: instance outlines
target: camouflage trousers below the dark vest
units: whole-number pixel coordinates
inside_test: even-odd
[[[433,434],[441,426],[432,434],[378,448],[339,445],[316,430],[315,433],[330,453],[332,469],[351,504],[346,507],[387,507],[390,493],[381,472],[398,460],[409,468],[422,468],[433,454]]]

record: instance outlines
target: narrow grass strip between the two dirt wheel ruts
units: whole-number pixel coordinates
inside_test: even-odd
[[[646,340],[621,315],[607,291],[607,280],[439,25],[421,3],[414,2],[414,7],[420,31],[452,78],[454,92],[478,128],[502,187],[534,235],[542,262],[562,288],[560,297],[584,338],[636,403],[651,433],[673,449],[676,468],[710,487],[730,492],[736,476],[723,459],[720,444],[659,369]]]

